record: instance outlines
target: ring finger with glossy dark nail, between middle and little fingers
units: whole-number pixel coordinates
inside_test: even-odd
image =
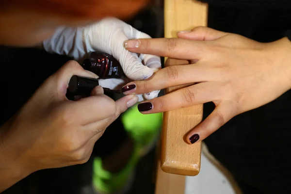
[[[203,82],[179,89],[138,105],[141,113],[161,113],[220,99],[222,92],[214,82]]]

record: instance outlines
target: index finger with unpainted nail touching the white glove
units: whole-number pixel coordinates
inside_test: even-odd
[[[125,47],[131,52],[187,60],[201,59],[207,53],[206,42],[182,38],[134,39],[126,41]]]

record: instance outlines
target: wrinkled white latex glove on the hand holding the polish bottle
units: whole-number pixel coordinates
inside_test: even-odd
[[[78,62],[89,57],[93,51],[102,51],[113,55],[130,80],[145,80],[161,68],[161,58],[132,53],[124,48],[126,40],[136,38],[150,36],[119,19],[109,17],[86,27],[60,27],[50,39],[43,42],[43,47],[50,53],[67,55]],[[99,83],[103,87],[116,89],[124,85],[126,80],[106,79],[100,80]],[[157,97],[159,92],[160,90],[147,93],[144,97],[152,99]]]

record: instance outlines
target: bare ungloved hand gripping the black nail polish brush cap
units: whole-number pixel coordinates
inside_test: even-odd
[[[104,130],[137,102],[135,96],[114,102],[100,86],[90,97],[70,101],[65,94],[73,75],[97,78],[77,62],[67,62],[0,130],[10,163],[31,173],[87,162]]]

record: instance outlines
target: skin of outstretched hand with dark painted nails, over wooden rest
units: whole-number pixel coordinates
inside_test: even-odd
[[[157,71],[150,79],[133,81],[127,95],[182,84],[191,86],[145,102],[159,113],[206,102],[215,110],[188,134],[204,140],[234,116],[267,104],[291,89],[291,42],[282,38],[259,43],[241,35],[197,27],[178,38],[127,41],[129,51],[188,60],[186,65]]]

